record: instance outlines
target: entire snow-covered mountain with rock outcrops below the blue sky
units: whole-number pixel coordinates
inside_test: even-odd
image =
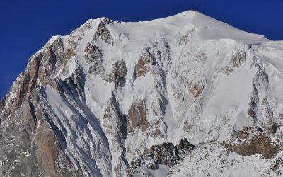
[[[277,176],[283,42],[186,11],[89,20],[0,107],[1,176]]]

